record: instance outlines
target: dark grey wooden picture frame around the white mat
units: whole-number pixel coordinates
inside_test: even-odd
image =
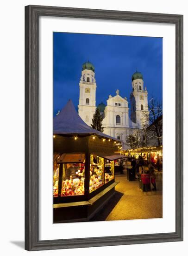
[[[57,16],[175,24],[175,232],[41,241],[38,238],[38,19]],[[68,7],[25,7],[25,249],[47,250],[183,240],[183,16]]]

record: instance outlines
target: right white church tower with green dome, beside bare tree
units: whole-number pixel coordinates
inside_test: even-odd
[[[143,75],[140,72],[135,72],[132,75],[132,93],[130,95],[131,101],[131,120],[137,124],[138,128],[149,125],[149,122],[145,120],[144,115],[148,111],[148,92],[146,87],[144,88]]]

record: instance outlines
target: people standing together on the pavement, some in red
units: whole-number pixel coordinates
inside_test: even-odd
[[[135,170],[138,179],[141,179],[143,183],[143,191],[146,190],[147,186],[152,184],[152,190],[156,191],[156,175],[155,168],[151,161],[148,161],[148,168],[144,169],[144,158],[139,155],[138,159],[133,156],[131,159],[131,165],[133,170]],[[147,188],[148,189],[148,188]]]

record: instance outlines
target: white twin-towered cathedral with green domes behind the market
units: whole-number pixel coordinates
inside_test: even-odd
[[[135,72],[132,75],[132,92],[130,94],[130,115],[127,98],[123,98],[117,89],[116,95],[109,95],[107,105],[101,102],[96,106],[96,80],[94,65],[85,62],[82,65],[80,79],[80,96],[78,114],[88,125],[91,125],[96,108],[103,116],[104,133],[125,142],[126,136],[143,128],[143,113],[148,112],[148,92],[144,88],[143,75]],[[149,124],[148,124],[149,125]]]

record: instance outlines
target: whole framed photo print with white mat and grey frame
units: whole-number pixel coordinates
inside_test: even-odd
[[[183,16],[25,7],[25,249],[183,240]]]

